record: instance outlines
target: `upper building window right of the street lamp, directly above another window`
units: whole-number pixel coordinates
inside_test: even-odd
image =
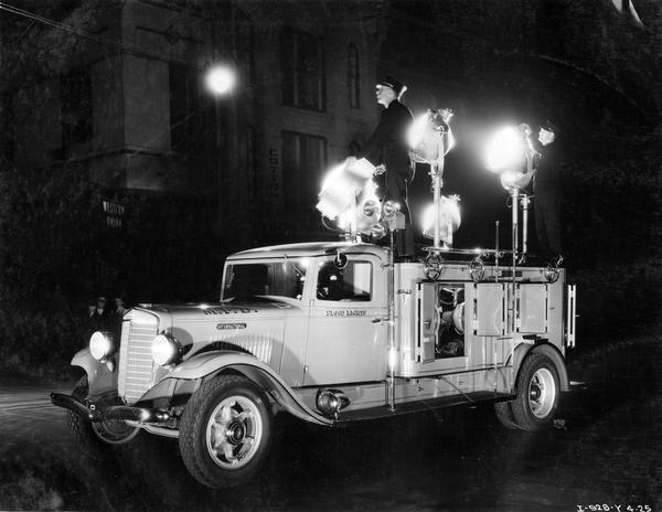
[[[324,111],[324,52],[320,38],[285,30],[282,33],[282,103]]]

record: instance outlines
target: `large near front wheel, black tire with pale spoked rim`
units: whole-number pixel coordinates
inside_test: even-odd
[[[204,486],[250,480],[271,442],[271,409],[264,393],[239,375],[205,382],[184,409],[179,446],[184,465]]]

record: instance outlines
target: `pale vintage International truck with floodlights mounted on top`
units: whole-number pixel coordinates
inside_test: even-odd
[[[442,130],[427,128],[442,148]],[[484,403],[509,428],[547,426],[568,390],[575,288],[564,268],[532,265],[519,248],[521,182],[506,189],[513,247],[453,248],[457,202],[440,195],[438,152],[424,159],[437,164],[433,244],[420,258],[396,257],[397,205],[364,193],[373,170],[349,168],[365,162],[345,164],[328,184],[348,186],[325,186],[318,204],[343,239],[234,254],[218,302],[141,305],[121,332],[92,335],[72,361],[85,376],[71,395],[51,395],[77,441],[175,438],[191,474],[223,488],[259,471],[277,413],[334,427]]]

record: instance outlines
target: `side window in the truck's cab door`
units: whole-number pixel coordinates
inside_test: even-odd
[[[344,268],[337,268],[333,262],[320,265],[317,282],[317,298],[342,302],[367,302],[372,299],[372,264],[348,262]]]

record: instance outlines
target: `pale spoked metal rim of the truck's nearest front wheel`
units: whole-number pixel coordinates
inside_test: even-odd
[[[245,396],[223,399],[212,412],[206,427],[209,454],[224,469],[247,465],[255,457],[261,437],[259,409]]]

